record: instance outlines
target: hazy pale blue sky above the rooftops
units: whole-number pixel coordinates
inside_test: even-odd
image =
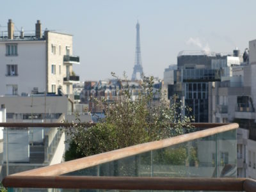
[[[256,39],[256,1],[0,1],[0,25],[56,29],[74,35],[74,67],[81,81],[107,79],[111,72],[131,77],[136,22],[146,75],[163,77],[183,50],[241,52]],[[1,30],[6,30],[0,26]]]

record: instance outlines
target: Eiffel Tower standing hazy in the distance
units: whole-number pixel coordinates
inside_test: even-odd
[[[140,73],[140,77],[143,74],[143,67],[141,65],[141,52],[140,52],[140,24],[139,21],[136,24],[136,51],[135,51],[135,62],[133,67],[133,73],[132,73],[132,81],[140,80],[138,79],[138,76],[136,76],[137,73]]]

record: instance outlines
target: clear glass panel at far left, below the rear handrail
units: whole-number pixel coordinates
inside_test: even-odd
[[[31,113],[13,118],[23,118],[24,122],[32,121]],[[33,114],[33,122],[42,122],[42,118],[44,117]],[[52,116],[51,119],[53,118]],[[65,148],[64,134],[57,127],[9,127],[8,130],[4,127],[0,179],[13,173],[48,166],[53,160],[61,163],[62,154],[60,158],[54,157],[56,152],[61,152],[61,148]]]

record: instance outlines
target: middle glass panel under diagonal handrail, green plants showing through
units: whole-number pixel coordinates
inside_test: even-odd
[[[214,136],[157,150],[154,177],[215,177],[215,150]]]

